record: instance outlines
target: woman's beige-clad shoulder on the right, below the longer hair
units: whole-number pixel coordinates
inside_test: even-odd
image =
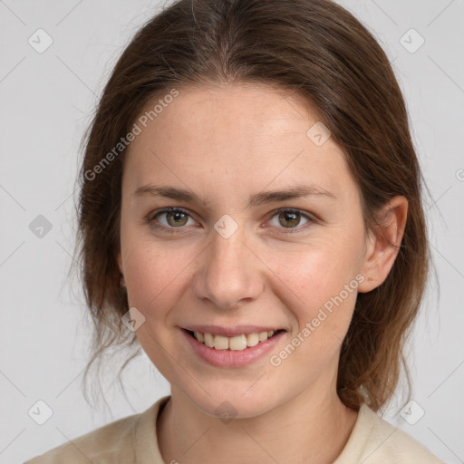
[[[352,435],[339,459],[334,464],[444,464],[418,440],[383,420],[366,404],[362,404]]]

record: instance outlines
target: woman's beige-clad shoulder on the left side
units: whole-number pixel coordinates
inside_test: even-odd
[[[115,420],[63,445],[50,449],[24,464],[109,464],[136,461],[135,442],[140,423],[154,413],[158,402],[148,410]],[[145,420],[146,421],[146,420]]]

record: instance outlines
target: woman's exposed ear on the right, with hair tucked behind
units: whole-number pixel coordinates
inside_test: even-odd
[[[382,285],[391,271],[406,227],[408,200],[399,195],[391,200],[376,215],[380,222],[370,230],[366,239],[366,253],[362,264],[364,281],[359,285],[361,293],[367,293]]]

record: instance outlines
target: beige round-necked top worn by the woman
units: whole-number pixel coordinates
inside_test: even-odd
[[[164,396],[149,409],[111,422],[24,464],[170,464],[161,458],[156,434]],[[174,461],[175,462],[175,461]],[[444,464],[419,441],[362,404],[353,431],[333,464]]]

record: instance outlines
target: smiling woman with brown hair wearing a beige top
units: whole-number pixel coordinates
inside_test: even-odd
[[[29,463],[441,462],[375,413],[428,247],[403,97],[352,14],[170,5],[116,64],[80,179],[92,361],[140,343],[171,394]]]

